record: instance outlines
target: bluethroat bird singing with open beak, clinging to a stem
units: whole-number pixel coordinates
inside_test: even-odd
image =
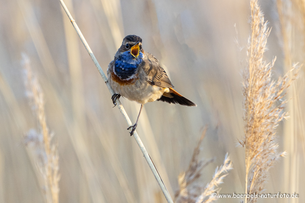
[[[108,81],[115,94],[111,99],[116,100],[123,96],[141,104],[137,122],[127,128],[133,134],[138,120],[147,102],[163,101],[178,103],[185,106],[197,106],[173,89],[173,84],[159,61],[142,49],[142,39],[136,35],[128,35],[114,56],[107,69]]]

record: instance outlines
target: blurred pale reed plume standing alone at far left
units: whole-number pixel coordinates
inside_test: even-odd
[[[36,162],[38,171],[44,182],[45,200],[47,203],[58,203],[59,187],[58,182],[60,179],[58,170],[58,152],[57,146],[51,144],[52,134],[49,133],[46,120],[43,93],[38,83],[37,78],[32,75],[30,61],[28,57],[23,54],[23,68],[25,70],[25,86],[27,88],[27,96],[35,111],[38,119],[38,127],[41,133],[35,130],[30,130],[25,136],[25,143],[34,144],[33,156]]]

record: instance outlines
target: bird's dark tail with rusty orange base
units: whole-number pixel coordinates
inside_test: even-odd
[[[163,95],[158,99],[158,101],[164,101],[168,103],[178,103],[184,106],[189,107],[197,107],[197,104],[188,100],[178,92],[176,92],[173,88],[170,88],[168,93],[163,93]]]

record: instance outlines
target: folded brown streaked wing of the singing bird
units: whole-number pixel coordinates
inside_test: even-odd
[[[170,79],[166,75],[164,69],[160,66],[159,61],[148,52],[145,51],[147,59],[142,63],[142,69],[148,76],[148,82],[151,85],[156,85],[159,87],[169,88],[174,87],[170,82]]]

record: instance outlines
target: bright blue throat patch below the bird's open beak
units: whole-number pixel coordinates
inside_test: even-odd
[[[127,79],[135,74],[138,65],[143,61],[143,53],[140,51],[138,58],[131,55],[130,51],[123,52],[114,62],[114,72],[120,79]]]

